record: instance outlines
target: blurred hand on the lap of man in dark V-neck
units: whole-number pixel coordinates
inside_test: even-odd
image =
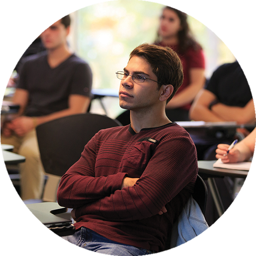
[[[13,131],[20,137],[27,134],[29,131],[32,131],[35,128],[35,122],[33,117],[29,116],[20,116],[12,121]]]

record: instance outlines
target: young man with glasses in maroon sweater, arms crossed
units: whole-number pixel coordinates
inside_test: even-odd
[[[165,114],[183,81],[177,54],[140,45],[117,77],[131,125],[99,131],[87,143],[57,193],[61,206],[73,208],[77,231],[34,255],[157,255],[193,192],[195,145]]]

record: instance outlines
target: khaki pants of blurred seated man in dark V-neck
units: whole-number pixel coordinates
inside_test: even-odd
[[[13,152],[26,157],[26,161],[20,163],[21,199],[41,198],[44,186],[44,168],[40,159],[35,129],[24,137],[13,135],[6,138],[1,134],[1,144],[14,145]]]

